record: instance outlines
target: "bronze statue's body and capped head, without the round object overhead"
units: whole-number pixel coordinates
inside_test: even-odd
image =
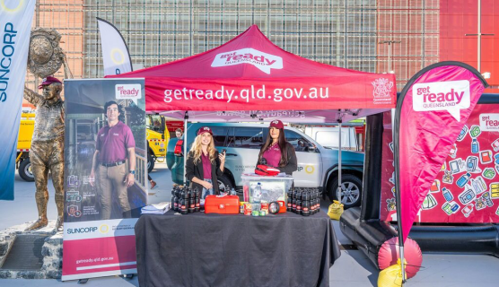
[[[56,189],[56,230],[62,230],[64,214],[64,131],[65,109],[61,99],[62,83],[48,76],[39,85],[41,95],[24,87],[24,99],[36,107],[35,127],[31,138],[30,161],[35,178],[35,199],[39,219],[26,230],[47,226],[48,171]]]

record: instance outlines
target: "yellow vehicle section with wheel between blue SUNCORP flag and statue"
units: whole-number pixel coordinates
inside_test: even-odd
[[[17,138],[17,158],[15,159],[15,168],[19,176],[26,181],[34,181],[31,171],[30,147],[31,136],[35,128],[35,114],[22,113],[21,125],[19,126],[19,135]]]

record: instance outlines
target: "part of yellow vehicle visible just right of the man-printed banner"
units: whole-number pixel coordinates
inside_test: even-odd
[[[146,115],[145,125],[147,132],[147,170],[151,172],[154,168],[154,162],[163,162],[166,156],[166,147],[170,140],[170,133],[166,126],[163,116]],[[158,159],[162,158],[162,161]]]

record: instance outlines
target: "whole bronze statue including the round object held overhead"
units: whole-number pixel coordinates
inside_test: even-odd
[[[64,133],[65,109],[61,99],[62,83],[54,74],[64,65],[65,77],[73,77],[66,65],[66,56],[58,48],[60,35],[56,30],[37,29],[31,32],[30,71],[40,77],[46,77],[39,89],[42,94],[24,87],[24,99],[36,107],[35,126],[31,138],[30,160],[35,178],[35,199],[39,219],[26,230],[36,230],[47,226],[48,171],[56,189],[57,223],[56,230],[61,231],[64,215]]]

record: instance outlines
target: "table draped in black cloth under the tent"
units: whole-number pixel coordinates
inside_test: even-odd
[[[140,286],[328,286],[340,256],[328,215],[144,214]]]

